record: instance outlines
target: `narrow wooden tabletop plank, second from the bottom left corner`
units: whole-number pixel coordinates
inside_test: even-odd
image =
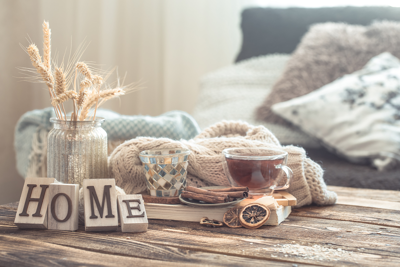
[[[192,251],[135,240],[102,237],[90,233],[76,233],[74,235],[61,231],[48,230],[46,231],[46,235],[43,235],[40,231],[13,231],[12,229],[5,229],[4,227],[0,230],[0,233],[3,236],[10,236],[12,234],[12,237],[22,237],[45,243],[80,248],[87,251],[161,261],[168,259],[168,261],[181,263],[202,263],[205,265],[211,264],[217,266],[245,266],[248,264],[251,266],[290,266],[288,263],[265,259],[224,256],[216,253]]]

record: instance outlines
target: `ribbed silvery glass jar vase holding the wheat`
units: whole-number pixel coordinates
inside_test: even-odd
[[[47,177],[79,184],[84,179],[107,178],[107,133],[104,118],[70,121],[50,118],[47,136]]]

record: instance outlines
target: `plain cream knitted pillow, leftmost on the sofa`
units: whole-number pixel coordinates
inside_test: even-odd
[[[289,58],[288,54],[254,57],[204,76],[200,80],[200,92],[192,113],[200,128],[221,120],[242,120],[253,125],[262,124],[282,144],[320,147],[318,140],[297,127],[255,120],[256,106],[270,93]]]

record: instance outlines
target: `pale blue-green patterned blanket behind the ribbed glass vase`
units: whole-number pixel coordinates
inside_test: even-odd
[[[196,120],[179,110],[152,117],[121,115],[111,110],[98,109],[96,116],[106,118],[102,128],[107,132],[108,141],[116,141],[117,144],[138,136],[188,140],[200,132]],[[14,148],[18,173],[22,177],[26,177],[28,166],[32,165],[32,161],[45,160],[46,155],[42,154],[46,151],[47,133],[53,128],[51,117],[55,117],[54,109],[45,108],[26,112],[17,122]],[[35,149],[32,149],[32,144]],[[35,162],[35,164],[41,163]]]

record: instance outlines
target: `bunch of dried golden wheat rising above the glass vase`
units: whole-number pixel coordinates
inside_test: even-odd
[[[118,70],[117,70],[117,87],[112,89],[110,86],[106,86],[106,89],[100,90],[104,81],[108,78],[111,72],[104,72],[106,74],[103,79],[98,73],[94,72],[89,68],[85,62],[79,62],[80,56],[82,55],[82,44],[78,47],[78,50],[72,55],[72,58],[68,59],[66,69],[64,69],[64,59],[62,60],[61,66],[57,66],[57,58],[54,61],[54,72],[52,72],[51,67],[51,30],[49,28],[49,23],[43,22],[43,62],[42,57],[39,54],[39,50],[35,44],[30,44],[26,48],[32,65],[35,67],[36,71],[43,78],[44,82],[49,88],[50,97],[52,99],[52,105],[57,114],[58,119],[66,120],[66,112],[64,109],[64,102],[68,99],[73,100],[74,111],[71,115],[71,120],[85,120],[89,113],[92,114],[93,120],[96,118],[97,107],[103,104],[106,100],[114,98],[125,94],[127,91],[137,90],[132,84],[128,86],[120,86]],[[78,61],[76,64],[73,62]],[[73,69],[75,66],[75,75],[73,74]],[[78,75],[78,70],[82,76]],[[96,69],[95,69],[96,70]],[[101,70],[100,73],[103,73]],[[79,92],[76,90],[76,78],[80,78],[78,84],[80,86]],[[31,76],[28,78],[38,78],[39,76]],[[68,87],[73,82],[74,90],[68,90]],[[122,82],[123,83],[123,82]],[[88,91],[90,93],[88,93]],[[62,117],[62,109],[64,110],[64,118]],[[95,106],[94,106],[95,105]],[[78,107],[78,108],[77,108]]]

